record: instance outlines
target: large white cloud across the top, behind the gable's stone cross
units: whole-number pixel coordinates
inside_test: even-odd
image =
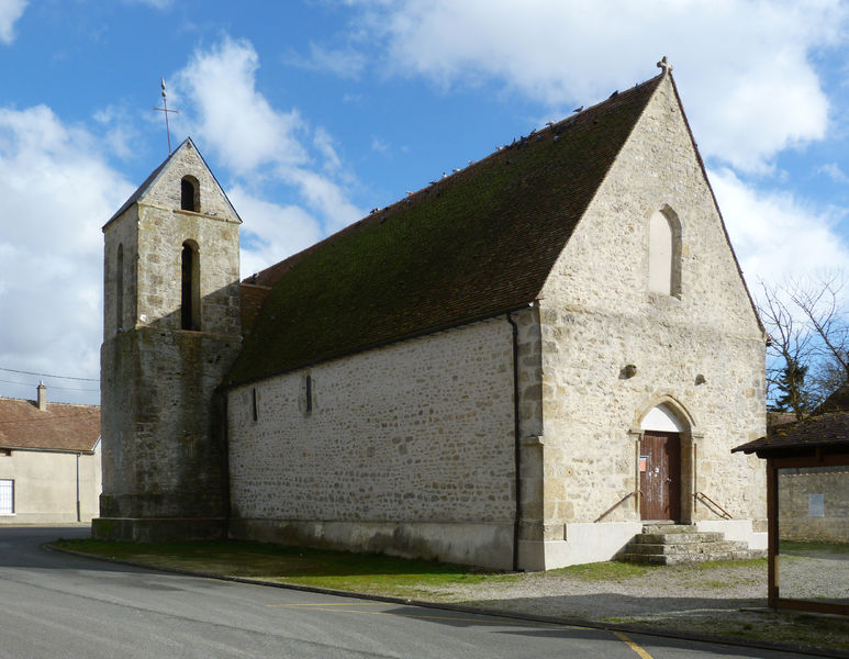
[[[645,0],[354,2],[386,66],[436,83],[501,80],[556,108],[589,105],[674,65],[707,157],[767,170],[778,152],[819,139],[829,105],[811,62],[839,44],[849,4]]]

